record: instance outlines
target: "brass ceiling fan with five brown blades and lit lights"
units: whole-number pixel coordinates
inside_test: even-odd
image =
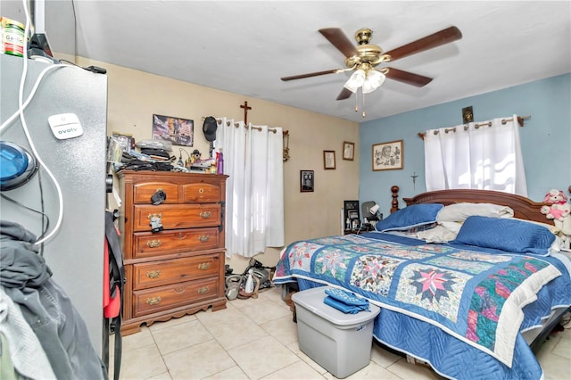
[[[393,62],[411,54],[417,54],[437,46],[451,43],[462,37],[462,33],[458,28],[450,27],[384,53],[380,46],[369,44],[373,35],[371,29],[359,29],[355,32],[355,40],[359,44],[357,46],[353,45],[349,38],[345,36],[343,30],[339,28],[319,29],[319,33],[321,33],[323,37],[326,37],[331,44],[343,53],[345,56],[346,69],[310,72],[308,74],[293,75],[281,79],[287,81],[337,74],[343,71],[354,71],[352,77],[347,80],[343,86],[343,90],[337,96],[337,100],[349,98],[359,87],[361,87],[364,94],[372,92],[383,84],[385,78],[398,80],[399,82],[416,87],[426,86],[432,81],[432,78],[414,74],[409,71],[394,69],[392,67],[383,67],[378,70],[375,69],[375,67],[380,63]]]

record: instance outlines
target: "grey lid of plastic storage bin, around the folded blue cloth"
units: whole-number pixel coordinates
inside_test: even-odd
[[[343,313],[341,310],[336,310],[323,302],[327,294],[325,290],[331,288],[330,286],[314,287],[302,292],[297,292],[292,295],[292,301],[299,304],[303,308],[312,311],[325,318],[335,325],[355,325],[359,323],[368,322],[370,319],[377,317],[381,309],[377,305],[369,302],[370,311],[360,311],[356,314]]]

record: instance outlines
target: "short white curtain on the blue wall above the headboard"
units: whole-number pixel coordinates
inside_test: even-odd
[[[427,130],[425,174],[426,191],[471,188],[527,196],[517,115]]]

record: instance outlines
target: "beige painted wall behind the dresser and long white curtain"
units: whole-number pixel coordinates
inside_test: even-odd
[[[108,134],[132,134],[136,141],[152,138],[153,113],[194,120],[194,147],[203,158],[209,145],[203,136],[203,117],[244,120],[244,101],[252,107],[248,121],[257,125],[289,130],[290,160],[284,162],[285,244],[304,238],[339,235],[343,200],[359,196],[359,124],[270,103],[244,95],[159,77],[105,62],[83,58],[83,67],[96,65],[107,70]],[[343,141],[355,143],[355,160],[344,161]],[[335,170],[323,169],[323,151],[335,151]],[[178,146],[173,147],[178,156]],[[186,154],[183,153],[183,158]],[[300,170],[315,170],[315,191],[300,193]],[[265,265],[277,263],[281,248],[267,249],[256,259]],[[241,256],[227,259],[241,273],[247,260]]]

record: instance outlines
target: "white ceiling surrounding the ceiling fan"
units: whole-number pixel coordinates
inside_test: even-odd
[[[350,73],[318,29],[373,30],[385,51],[452,25],[462,39],[391,66],[434,78],[426,87],[387,79],[366,95],[367,118],[407,112],[571,71],[569,1],[85,1],[73,3],[75,53],[205,87],[363,121],[355,95],[335,97]],[[63,14],[63,13],[60,13]],[[54,45],[57,39],[47,30]],[[69,44],[69,42],[68,42]],[[250,102],[252,103],[252,102]]]

